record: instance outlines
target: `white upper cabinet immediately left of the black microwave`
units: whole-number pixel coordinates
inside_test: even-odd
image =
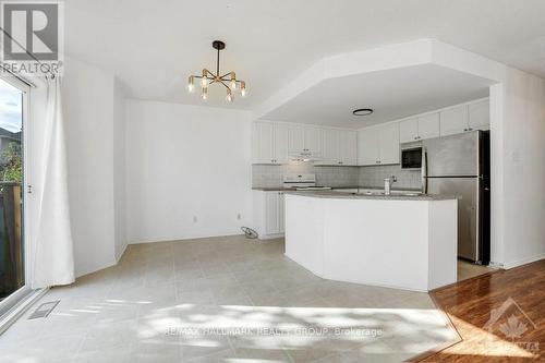
[[[388,123],[358,132],[358,165],[399,164],[399,124]]]

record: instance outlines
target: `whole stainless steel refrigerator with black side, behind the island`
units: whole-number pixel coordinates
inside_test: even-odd
[[[489,263],[489,132],[473,131],[423,142],[423,189],[456,194],[458,256]]]

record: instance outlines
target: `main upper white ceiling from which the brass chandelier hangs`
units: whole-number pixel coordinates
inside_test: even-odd
[[[250,89],[229,107],[252,109],[318,59],[417,38],[545,77],[544,15],[543,0],[69,0],[65,44],[130,97],[201,105],[186,78],[215,66],[210,43],[222,39],[222,69]],[[223,99],[218,89],[207,105]]]

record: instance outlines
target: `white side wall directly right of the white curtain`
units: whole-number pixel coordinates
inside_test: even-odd
[[[66,59],[62,81],[76,276],[116,263],[113,74]]]

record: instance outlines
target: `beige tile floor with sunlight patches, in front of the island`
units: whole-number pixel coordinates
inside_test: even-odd
[[[131,245],[52,300],[0,336],[0,362],[400,362],[456,338],[426,293],[323,280],[283,240]]]

